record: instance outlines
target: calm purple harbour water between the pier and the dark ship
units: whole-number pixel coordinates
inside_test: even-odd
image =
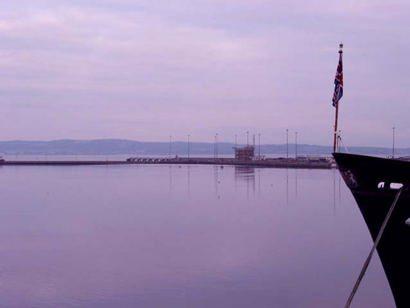
[[[342,307],[372,247],[336,170],[0,168],[1,307]],[[354,307],[393,307],[378,256]]]

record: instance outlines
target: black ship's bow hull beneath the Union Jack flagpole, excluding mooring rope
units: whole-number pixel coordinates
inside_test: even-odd
[[[373,240],[398,192],[392,216],[377,247],[398,308],[408,307],[410,290],[410,162],[334,153],[340,173],[351,190]]]

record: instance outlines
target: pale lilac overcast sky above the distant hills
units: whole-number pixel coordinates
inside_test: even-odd
[[[410,147],[410,3],[71,0],[2,4],[0,140],[332,145],[339,43],[348,146]]]

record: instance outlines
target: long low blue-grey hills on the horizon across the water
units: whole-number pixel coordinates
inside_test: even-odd
[[[245,145],[238,145],[244,147]],[[218,154],[233,154],[234,144],[230,142],[218,143]],[[332,147],[315,145],[298,145],[298,154],[330,155]],[[256,148],[256,152],[257,152]],[[351,153],[388,155],[391,148],[348,147]],[[261,154],[286,155],[286,145],[261,145]],[[4,155],[98,155],[98,154],[133,154],[133,155],[169,155],[169,142],[140,142],[125,139],[97,139],[97,140],[52,140],[52,141],[0,141],[0,154]],[[172,154],[187,155],[188,143],[185,141],[172,142]],[[289,155],[295,153],[295,145],[289,144]],[[213,155],[214,143],[190,142],[191,155]],[[409,155],[410,148],[395,149],[397,155]]]

